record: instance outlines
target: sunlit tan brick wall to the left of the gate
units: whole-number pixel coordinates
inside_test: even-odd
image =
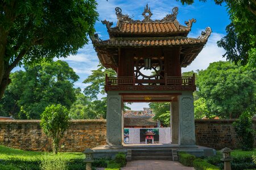
[[[60,143],[60,151],[66,152],[106,145],[106,120],[72,120]],[[40,128],[40,120],[1,120],[0,145],[22,150],[52,150],[51,140]]]

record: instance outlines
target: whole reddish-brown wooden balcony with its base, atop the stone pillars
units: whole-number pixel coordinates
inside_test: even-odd
[[[195,91],[193,76],[164,76],[164,79],[136,79],[135,76],[105,77],[105,91]]]

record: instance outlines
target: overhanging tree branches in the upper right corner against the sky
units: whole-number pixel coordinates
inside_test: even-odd
[[[194,0],[177,0],[191,5]],[[207,0],[200,0],[206,2]],[[231,23],[226,27],[226,36],[217,42],[224,48],[224,57],[235,63],[256,66],[256,1],[214,0],[217,5],[226,3]]]

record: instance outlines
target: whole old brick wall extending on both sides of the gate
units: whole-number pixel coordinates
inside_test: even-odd
[[[232,123],[235,120],[195,120],[196,145],[217,150],[237,148]],[[0,120],[0,145],[22,150],[50,151],[51,141],[40,128],[39,120]],[[256,130],[256,120],[253,120]],[[254,146],[256,147],[256,137]],[[81,152],[106,145],[106,120],[73,120],[61,140],[61,151]]]

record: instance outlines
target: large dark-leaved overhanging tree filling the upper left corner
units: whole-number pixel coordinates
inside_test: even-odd
[[[88,43],[97,20],[94,0],[0,2],[0,99],[15,66],[67,57]]]

